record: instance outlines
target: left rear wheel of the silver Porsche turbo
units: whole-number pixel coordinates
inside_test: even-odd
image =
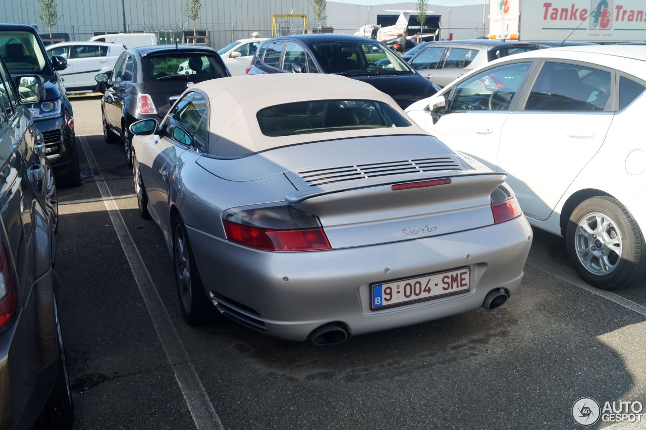
[[[175,264],[175,278],[184,319],[191,325],[211,322],[215,312],[209,303],[200,274],[195,266],[191,243],[189,243],[189,237],[182,220],[175,221],[173,236],[172,254]]]

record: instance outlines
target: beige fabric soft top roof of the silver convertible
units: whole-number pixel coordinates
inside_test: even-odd
[[[209,154],[219,157],[242,157],[267,149],[311,141],[426,134],[414,125],[397,128],[366,128],[315,134],[271,137],[260,131],[258,110],[284,103],[314,100],[373,100],[393,107],[406,118],[397,103],[368,83],[329,74],[276,73],[225,77],[196,84],[211,103]]]

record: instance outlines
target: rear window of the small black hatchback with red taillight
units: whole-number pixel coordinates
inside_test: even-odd
[[[208,79],[227,76],[218,59],[213,55],[188,52],[173,52],[144,57],[143,76],[150,81],[191,81],[202,82]]]

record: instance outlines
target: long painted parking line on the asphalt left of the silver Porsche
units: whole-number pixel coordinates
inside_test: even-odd
[[[123,253],[130,264],[130,270],[134,275],[134,280],[137,282],[143,301],[151,316],[152,325],[155,327],[161,346],[166,353],[166,358],[171,364],[172,372],[175,374],[177,384],[182,391],[191,416],[193,416],[195,427],[200,430],[224,429],[222,422],[220,422],[220,417],[215,412],[213,404],[202,385],[202,381],[200,381],[200,377],[189,359],[189,354],[186,353],[182,340],[180,340],[180,336],[177,334],[174,325],[172,325],[171,317],[166,311],[163,302],[161,302],[159,293],[152,282],[151,274],[148,272],[145,263],[143,263],[143,259],[132,240],[132,236],[130,236],[121,212],[112,197],[107,183],[103,179],[101,169],[99,169],[94,154],[92,154],[92,150],[87,143],[87,139],[85,136],[79,136],[79,142],[81,143],[81,147],[83,147],[83,152],[85,152],[85,158],[87,158],[90,169],[98,172],[94,176],[96,186],[99,188],[101,198],[103,198],[103,203],[105,203],[105,209],[107,209],[110,215],[110,220],[112,220],[112,225],[114,225],[114,230],[121,243]]]

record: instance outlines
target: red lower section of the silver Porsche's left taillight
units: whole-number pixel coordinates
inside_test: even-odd
[[[318,251],[330,249],[321,227],[312,229],[271,230],[223,220],[227,239],[240,245],[265,251]]]

